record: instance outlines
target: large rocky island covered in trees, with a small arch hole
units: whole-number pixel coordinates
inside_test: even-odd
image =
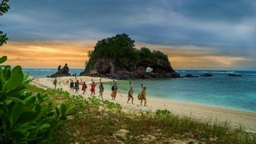
[[[98,41],[88,56],[86,69],[80,75],[116,79],[180,77],[166,54],[146,47],[136,49],[134,40],[127,34]]]

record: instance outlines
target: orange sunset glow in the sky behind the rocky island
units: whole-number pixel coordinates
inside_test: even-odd
[[[96,42],[50,42],[50,43],[22,43],[9,42],[2,55],[8,55],[11,66],[20,65],[25,68],[56,68],[68,63],[70,68],[83,69],[87,52],[94,49]],[[250,61],[249,58],[221,56],[214,50],[202,50],[193,46],[154,46],[137,44],[136,47],[146,46],[151,50],[161,50],[168,54],[170,62],[176,70],[202,69],[222,70],[238,68],[241,62]]]

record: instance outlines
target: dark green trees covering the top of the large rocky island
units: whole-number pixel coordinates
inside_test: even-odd
[[[138,50],[134,47],[134,42],[127,34],[117,34],[114,37],[104,38],[98,41],[96,46],[94,46],[94,50],[88,52],[90,59],[86,65],[86,70],[92,70],[98,58],[115,58],[117,60],[116,62],[118,62],[117,66],[121,68],[127,65],[137,64],[141,58],[161,58],[167,63],[170,63],[166,54],[156,50],[152,52],[146,47]]]

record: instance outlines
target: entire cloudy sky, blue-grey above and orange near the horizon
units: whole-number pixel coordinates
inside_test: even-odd
[[[126,33],[174,69],[256,70],[254,0],[10,0],[10,65],[83,68],[95,43]]]

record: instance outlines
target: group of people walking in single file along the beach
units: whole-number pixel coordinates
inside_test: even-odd
[[[79,86],[82,85],[82,89],[81,89],[82,94],[86,94],[86,89],[87,89],[86,82],[83,82],[82,79],[81,79],[81,82],[79,82],[77,78],[75,78],[75,79],[76,79],[75,81],[70,79],[70,91],[78,94],[78,90],[80,90]],[[115,100],[115,98],[117,97],[117,94],[119,94],[121,97],[122,97],[122,95],[118,90],[117,83],[115,81],[113,81],[113,82],[114,82],[114,85],[111,86],[112,93],[110,94],[110,96],[111,96],[112,100]],[[54,88],[55,89],[56,89],[57,83],[58,83],[58,81],[55,78],[54,79]],[[140,93],[138,94],[138,100],[141,101],[141,106],[142,106],[143,101],[144,101],[144,106],[146,106],[146,87],[144,87],[143,85],[141,85],[141,86],[142,86],[142,89],[141,89]],[[96,83],[92,79],[91,84],[90,84],[90,96],[95,97],[95,88],[96,88]],[[103,98],[104,86],[103,86],[103,82],[101,79],[99,82],[98,90],[99,90],[98,97]],[[129,103],[130,100],[131,100],[131,103],[134,103],[133,94],[134,94],[134,90],[133,90],[133,87],[131,86],[131,82],[130,82],[130,90],[128,91],[127,103]]]

